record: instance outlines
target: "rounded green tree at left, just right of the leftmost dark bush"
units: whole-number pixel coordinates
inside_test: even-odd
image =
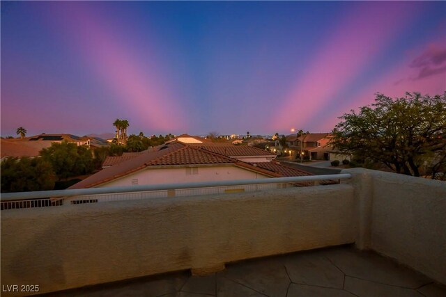
[[[51,163],[59,180],[86,175],[94,169],[91,150],[67,141],[52,143],[50,147],[40,151],[40,156]]]

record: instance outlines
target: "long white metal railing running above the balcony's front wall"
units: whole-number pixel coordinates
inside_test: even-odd
[[[350,173],[341,173],[337,175],[310,175],[304,177],[275,177],[266,179],[238,179],[215,182],[190,182],[176,184],[116,186],[108,188],[77,188],[56,191],[2,193],[0,202],[1,209],[3,210],[63,205],[63,200],[70,200],[70,204],[82,204],[114,200],[139,200],[172,196],[203,195],[209,193],[231,193],[237,190],[261,191],[271,187],[257,185],[293,184],[293,186],[310,186],[312,184],[308,184],[309,182],[349,178],[351,178]],[[213,189],[205,191],[206,188]],[[79,199],[75,200],[75,198]],[[38,200],[42,200],[39,202],[40,204],[36,204],[36,201]],[[32,203],[26,204],[24,202]],[[34,204],[43,206],[33,206]]]

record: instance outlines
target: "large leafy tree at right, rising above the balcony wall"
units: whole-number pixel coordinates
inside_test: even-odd
[[[330,142],[365,162],[383,163],[406,175],[420,176],[446,154],[446,93],[429,97],[406,93],[392,99],[377,94],[375,103],[340,117]]]

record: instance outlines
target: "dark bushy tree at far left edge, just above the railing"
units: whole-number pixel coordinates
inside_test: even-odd
[[[52,190],[56,175],[42,158],[8,158],[1,162],[1,192]]]

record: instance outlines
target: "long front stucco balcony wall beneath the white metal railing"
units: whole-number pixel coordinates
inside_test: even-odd
[[[56,291],[353,243],[354,200],[340,184],[2,211],[1,284]]]

